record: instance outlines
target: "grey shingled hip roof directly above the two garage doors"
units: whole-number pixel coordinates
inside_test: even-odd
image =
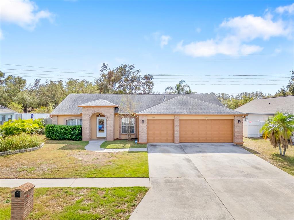
[[[243,114],[223,106],[193,99],[186,96],[178,96],[138,114]]]

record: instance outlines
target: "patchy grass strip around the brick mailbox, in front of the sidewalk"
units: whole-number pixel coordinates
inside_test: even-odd
[[[9,220],[12,188],[0,188],[0,219]],[[128,219],[148,188],[35,188],[26,220]]]

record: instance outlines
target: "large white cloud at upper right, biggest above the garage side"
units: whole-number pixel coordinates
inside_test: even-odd
[[[270,13],[264,18],[246,15],[243,17],[230,18],[223,21],[219,26],[220,31],[227,31],[223,37],[218,33],[215,39],[196,41],[184,44],[178,43],[174,51],[181,51],[192,57],[209,57],[217,54],[223,55],[249,55],[263,50],[258,45],[248,42],[261,38],[268,40],[270,37],[290,37],[291,28],[282,20],[273,21]]]

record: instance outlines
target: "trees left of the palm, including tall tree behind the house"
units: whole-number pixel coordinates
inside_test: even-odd
[[[17,112],[51,113],[70,93],[152,93],[151,74],[141,75],[134,65],[123,64],[111,69],[103,63],[100,75],[94,82],[85,79],[35,79],[27,85],[20,76],[5,76],[0,71],[0,105]]]

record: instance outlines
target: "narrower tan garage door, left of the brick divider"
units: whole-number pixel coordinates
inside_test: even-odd
[[[147,120],[148,143],[173,143],[173,120]]]

